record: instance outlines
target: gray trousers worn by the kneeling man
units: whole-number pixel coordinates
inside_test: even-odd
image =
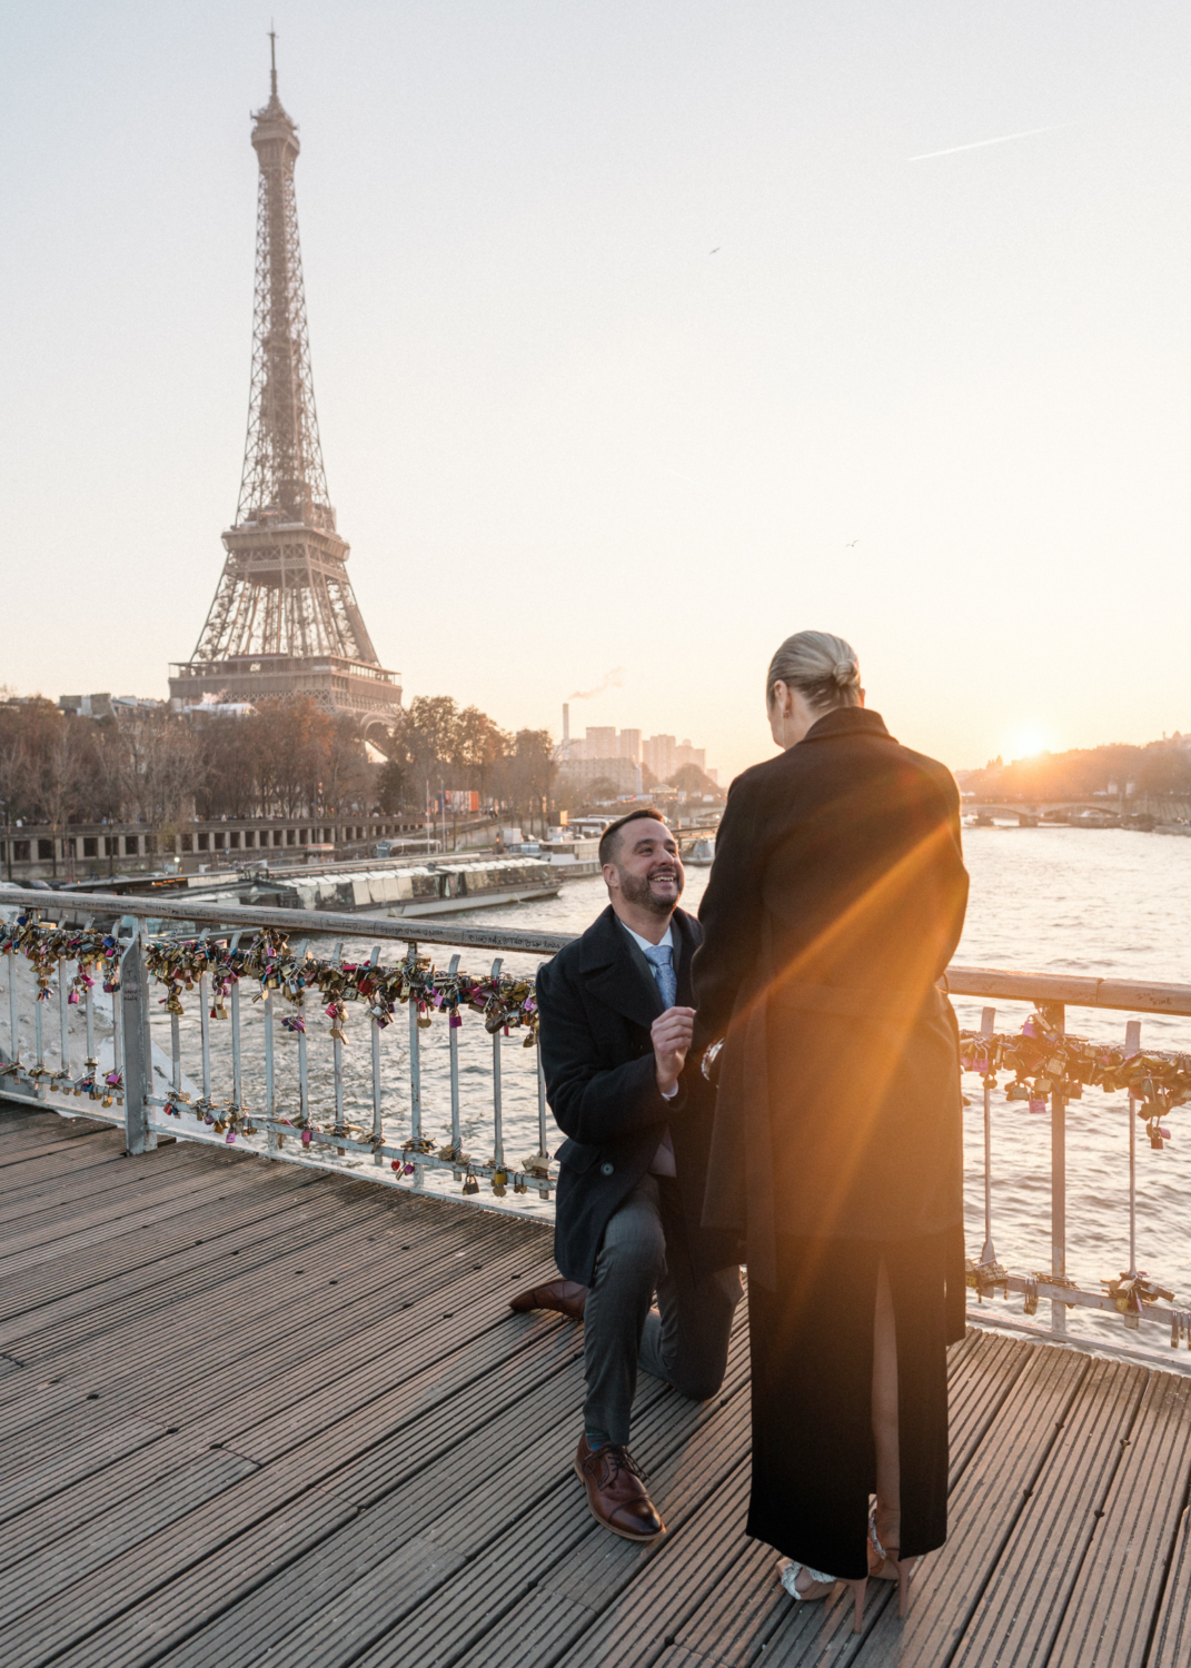
[[[741,1296],[739,1268],[696,1278],[677,1181],[642,1176],[604,1229],[587,1293],[584,1429],[629,1444],[637,1366],[692,1401],[714,1396]]]

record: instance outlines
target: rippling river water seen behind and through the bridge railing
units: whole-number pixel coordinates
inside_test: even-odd
[[[1119,829],[969,829],[964,837],[967,867],[972,877],[967,924],[956,961],[962,966],[1024,969],[1029,972],[1099,974],[1134,979],[1158,979],[1191,984],[1191,839],[1134,834]],[[706,869],[687,871],[684,906],[697,912],[707,884]],[[580,932],[606,904],[599,877],[564,886],[554,899],[482,909],[449,917],[442,924],[485,927],[535,927],[549,932]],[[312,949],[315,946],[312,944]],[[367,939],[344,946],[345,959],[367,959]],[[325,954],[325,946],[319,946]],[[397,959],[400,947],[387,944],[382,959]],[[450,951],[435,951],[445,964]],[[482,972],[489,959],[464,952],[462,966]],[[505,971],[532,972],[537,957],[507,956]],[[249,987],[245,986],[245,992]],[[244,1099],[260,1109],[264,1101],[264,1026],[262,1007],[244,999]],[[280,1004],[282,1011],[285,1004]],[[47,1011],[48,1009],[48,1011]],[[979,1001],[956,999],[961,1026],[979,1026]],[[1019,1029],[1028,1014],[1024,1004],[998,1004],[999,1031]],[[55,1036],[57,1002],[43,1004],[48,1036]],[[360,1004],[349,1004],[345,1056],[345,1111],[354,1123],[372,1118],[372,1079],[369,1024]],[[1106,1041],[1124,1041],[1128,1014],[1068,1009],[1068,1031]],[[312,1111],[319,1123],[334,1119],[329,1021],[314,1004],[309,1011],[309,1071]],[[72,1019],[72,1054],[75,1053]],[[98,1016],[100,1036],[110,1026]],[[212,1026],[212,1064],[215,1099],[230,1099],[230,1026]],[[475,1014],[465,1014],[457,1032],[460,1044],[460,1099],[464,1108],[464,1141],[480,1163],[492,1154],[492,1041]],[[512,1032],[502,1042],[502,1089],[505,1156],[512,1166],[537,1149],[537,1076],[535,1051],[524,1049],[524,1032]],[[1143,1046],[1191,1053],[1191,1019],[1161,1016],[1143,1017]],[[153,1019],[155,1042],[168,1054],[168,1021],[158,1011]],[[25,1058],[28,1042],[23,1039]],[[82,1039],[78,1039],[82,1041]],[[183,1064],[188,1078],[198,1078],[198,1011],[187,999],[182,1019]],[[50,1048],[48,1053],[55,1053]],[[78,1051],[82,1054],[82,1049]],[[275,1026],[279,1106],[297,1106],[297,1039]],[[435,1019],[420,1032],[424,1129],[445,1141],[450,1133],[450,1094],[447,1071],[447,1026]],[[409,1134],[409,1029],[405,1012],[382,1034],[382,1083],[385,1134],[400,1141]],[[984,1158],[982,1101],[977,1078],[966,1078],[971,1101],[966,1111],[966,1208],[967,1249],[979,1254],[984,1239]],[[1138,1264],[1168,1288],[1183,1306],[1191,1304],[1191,1231],[1188,1198],[1191,1198],[1191,1106],[1169,1118],[1173,1141],[1154,1153],[1138,1126]],[[182,1121],[188,1133],[192,1119]],[[1088,1089],[1081,1101],[1068,1108],[1068,1273],[1079,1284],[1098,1289],[1101,1276],[1118,1274],[1128,1266],[1128,1131],[1129,1111],[1124,1096]],[[547,1144],[557,1148],[560,1136],[550,1119]],[[329,1156],[335,1169],[350,1169],[397,1181],[389,1166],[374,1168],[369,1156]],[[1049,1229],[1049,1116],[1031,1116],[1024,1103],[1008,1103],[1001,1089],[992,1098],[992,1236],[996,1253],[1013,1273],[1046,1269],[1051,1263]],[[457,1194],[450,1174],[427,1173],[432,1191]],[[482,1198],[495,1203],[487,1183]],[[504,1208],[549,1218],[554,1206],[537,1193],[509,1196]],[[1003,1304],[1003,1299],[994,1299]],[[1003,1304],[1004,1313],[1021,1314],[1021,1298]],[[1039,1309],[1046,1321],[1048,1306]],[[1158,1324],[1143,1324],[1141,1333],[1126,1333],[1113,1316],[1069,1311],[1069,1329],[1131,1348],[1153,1346],[1158,1354],[1169,1348]]]

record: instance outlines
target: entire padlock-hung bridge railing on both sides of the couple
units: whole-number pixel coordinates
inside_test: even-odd
[[[505,1068],[502,1061],[502,1044],[504,1037],[509,1034],[505,1026],[509,1014],[500,1006],[504,1001],[500,992],[509,984],[510,976],[504,974],[502,967],[505,957],[515,954],[549,957],[562,949],[564,944],[570,942],[569,936],[464,927],[425,919],[390,921],[364,916],[337,916],[322,911],[277,911],[255,906],[232,907],[227,904],[195,904],[172,897],[117,899],[102,894],[50,896],[47,892],[0,886],[0,911],[12,914],[13,906],[23,911],[30,919],[37,919],[40,916],[43,921],[55,921],[60,924],[75,922],[80,929],[87,927],[95,919],[112,921],[113,917],[118,917],[120,927],[117,931],[122,936],[113,937],[110,952],[110,964],[115,966],[118,961],[118,977],[108,981],[115,982],[118,989],[112,992],[110,1073],[103,1074],[98,1069],[92,986],[82,981],[80,989],[78,977],[70,972],[70,967],[77,967],[78,964],[72,962],[67,954],[60,956],[48,972],[47,969],[42,971],[43,984],[38,992],[40,999],[33,1001],[32,1014],[33,1058],[22,1059],[18,1012],[20,979],[17,969],[20,951],[15,947],[8,949],[5,956],[8,972],[8,1049],[0,1049],[0,1056],[3,1056],[0,1059],[0,1093],[17,1099],[35,1099],[43,1104],[58,1106],[63,1111],[78,1111],[78,1098],[80,1094],[87,1094],[92,1103],[97,1103],[98,1116],[108,1116],[123,1124],[127,1148],[130,1153],[143,1153],[145,1149],[155,1146],[158,1133],[167,1134],[180,1131],[180,1124],[173,1123],[173,1126],[170,1126],[170,1119],[180,1118],[185,1111],[192,1118],[202,1118],[204,1129],[212,1124],[220,1134],[227,1129],[229,1138],[235,1138],[237,1134],[247,1134],[249,1138],[254,1133],[262,1134],[264,1151],[270,1156],[310,1161],[332,1153],[335,1156],[352,1153],[370,1154],[375,1164],[392,1166],[392,1169],[399,1173],[399,1178],[409,1178],[414,1188],[422,1188],[429,1176],[442,1173],[440,1179],[445,1181],[447,1176],[454,1178],[455,1183],[462,1183],[464,1193],[472,1196],[479,1193],[479,1183],[487,1181],[497,1198],[502,1198],[509,1188],[512,1188],[514,1193],[527,1193],[532,1189],[542,1199],[550,1198],[550,1189],[557,1183],[557,1171],[550,1166],[549,1159],[550,1126],[547,1121],[545,1086],[542,1081],[540,1059],[535,1048],[534,1093],[537,1151],[529,1159],[522,1159],[520,1163],[517,1159],[510,1159],[507,1153],[509,1143],[505,1139],[504,1116]],[[148,932],[150,922],[157,927],[153,936]],[[172,924],[173,932],[170,934],[168,929]],[[185,924],[187,936],[178,932],[178,924]],[[259,929],[255,937],[254,929]],[[217,1011],[222,1004],[219,1002],[219,991],[212,987],[212,974],[209,972],[200,972],[195,981],[195,994],[200,1002],[200,1059],[197,1073],[202,1089],[197,1096],[193,1096],[183,1088],[185,1074],[182,1063],[178,1012],[170,1012],[168,1061],[165,1066],[157,1068],[157,1074],[160,1076],[165,1073],[168,1081],[165,1081],[160,1089],[155,1089],[153,1051],[148,1026],[148,1014],[155,1002],[155,992],[150,989],[152,981],[148,974],[147,952],[152,952],[153,946],[158,949],[160,946],[165,946],[167,952],[170,946],[190,946],[190,951],[193,951],[195,946],[205,946],[212,952],[219,947],[219,956],[222,956],[224,964],[227,964],[227,957],[234,959],[237,956],[242,941],[259,942],[260,932],[287,936],[289,939],[299,939],[305,934],[302,942],[297,944],[297,949],[294,951],[292,959],[297,962],[302,962],[312,939],[332,939],[334,949],[329,956],[319,957],[319,966],[324,969],[330,967],[332,971],[335,967],[342,967],[350,979],[355,979],[357,989],[362,984],[367,991],[374,987],[377,981],[387,981],[387,989],[392,996],[397,984],[400,984],[400,999],[409,1009],[409,1042],[404,1071],[405,1109],[399,1114],[402,1126],[400,1138],[392,1134],[392,1124],[395,1121],[390,1094],[392,1061],[385,1058],[387,1044],[384,1041],[384,1032],[390,1019],[395,1016],[397,1001],[390,999],[385,1002],[380,999],[379,1004],[374,1001],[369,1009],[370,1051],[367,1078],[370,1119],[367,1119],[367,1126],[355,1126],[345,1116],[344,1032],[342,1026],[335,1022],[332,1014],[330,1076],[327,1079],[329,1104],[325,1116],[320,1119],[312,1108],[307,1031],[304,1024],[295,1022],[295,1019],[300,1021],[304,1014],[312,987],[299,992],[297,996],[290,991],[290,996],[294,997],[290,1009],[295,1019],[290,1019],[289,1022],[282,1019],[282,1022],[287,1024],[287,1029],[297,1031],[297,1093],[292,1104],[282,1104],[284,1098],[279,1096],[275,1074],[275,1009],[279,991],[275,987],[277,981],[270,984],[267,957],[265,961],[257,957],[257,962],[250,966],[247,974],[259,984],[257,999],[262,1002],[264,1009],[264,1094],[252,1101],[254,1109],[249,1109],[245,1101],[242,992],[240,977],[235,976],[225,981],[227,1016],[230,1019],[230,1059],[224,1063],[224,1078],[230,1078],[230,1096],[219,1099],[215,1093],[210,1014],[212,1001],[217,1001]],[[360,939],[374,941],[369,959],[365,962],[357,961],[355,964],[344,962],[344,942],[359,942]],[[390,942],[405,946],[405,954],[397,962],[384,964],[380,961],[382,949]],[[437,971],[429,967],[425,957],[420,956],[420,951],[435,946],[447,946],[455,951],[455,954],[449,959],[449,964]],[[470,1091],[470,1083],[474,1083],[474,1068],[469,1068],[467,1104],[464,1104],[464,1089],[460,1086],[459,981],[462,976],[459,962],[462,951],[499,952],[490,971],[487,971],[479,981],[470,982],[472,1007],[479,1007],[479,999],[487,997],[485,1029],[490,1034],[490,1058],[485,1071],[489,1101],[485,1123],[487,1133],[490,1133],[489,1158],[472,1156],[465,1151],[464,1121],[467,1116],[474,1123],[472,1114],[475,1113],[475,1104]],[[219,961],[219,957],[215,957],[215,961]],[[279,977],[284,977],[285,966],[282,961],[277,962],[277,967],[280,969]],[[58,999],[58,1037],[57,1046],[50,1048],[45,1012],[53,994],[55,981]],[[512,982],[515,984],[515,979]],[[532,997],[532,976],[524,976],[522,984]],[[994,996],[1006,1001],[1031,1002],[1038,1009],[1038,1014],[1044,1016],[1051,1036],[1063,1036],[1066,1032],[1068,1006],[1128,1014],[1191,1016],[1191,986],[1179,984],[1003,972],[984,967],[957,966],[951,966],[947,969],[944,984],[947,994],[951,996]],[[430,1014],[430,1009],[439,1006],[440,997],[445,1007],[450,1009],[447,1024],[435,1026],[439,1032],[445,1032],[445,1074],[442,1076],[445,1076],[449,1084],[450,1136],[449,1139],[434,1143],[429,1139],[424,1128],[422,1031],[432,1022],[434,1016]],[[87,1058],[82,1078],[72,1069],[70,1059],[68,1031],[72,1006],[82,1007],[85,1031]],[[530,1039],[532,1024],[529,1021],[535,1019],[532,1006],[532,999],[522,1001],[517,1014],[512,1017],[512,1024],[527,1024]],[[494,1019],[495,1022],[492,1022]],[[996,1009],[984,1007],[979,1036],[991,1039],[994,1036],[994,1024]],[[439,1044],[439,1048],[442,1048],[442,1044]],[[1126,1024],[1124,1053],[1129,1056],[1139,1056],[1139,1049],[1141,1022],[1134,1017]],[[52,1056],[57,1056],[57,1064],[52,1063]],[[1171,1056],[1168,1056],[1168,1059]],[[1183,1056],[1179,1056],[1179,1059],[1183,1059],[1184,1068],[1191,1068],[1191,1061],[1186,1061]],[[229,1084],[225,1083],[222,1088],[227,1089]],[[254,1094],[257,1093],[259,1086],[254,1086]],[[1131,1088],[1128,1103],[1129,1269],[1124,1273],[1133,1276],[1134,1281],[1138,1278],[1136,1111],[1139,1109],[1139,1094],[1141,1091],[1134,1094],[1134,1089]],[[1163,1296],[1168,1294],[1154,1296],[1153,1291],[1144,1293],[1139,1288],[1133,1293],[1133,1298],[1129,1298],[1129,1288],[1123,1298],[1121,1291],[1088,1291],[1068,1276],[1068,1094],[1061,1093],[1059,1088],[1054,1088],[1049,1093],[1049,1269],[1014,1274],[1003,1268],[998,1261],[994,1248],[991,1096],[992,1089],[989,1076],[986,1074],[982,1088],[984,1243],[979,1259],[969,1259],[967,1269],[967,1283],[974,1289],[976,1303],[981,1304],[986,1296],[998,1291],[1004,1296],[1013,1291],[1024,1298],[1026,1314],[1033,1314],[1036,1313],[1039,1301],[1049,1301],[1051,1333],[1058,1336],[1066,1333],[1068,1309],[1073,1306],[1108,1311],[1118,1316],[1123,1314],[1124,1324],[1129,1328],[1134,1328],[1141,1318],[1146,1318],[1169,1326],[1173,1346],[1186,1343],[1188,1349],[1191,1349],[1191,1311],[1176,1306],[1173,1298],[1169,1298],[1169,1301],[1161,1301]],[[1188,1094],[1188,1098],[1191,1099],[1191,1094]],[[385,1129],[385,1123],[390,1126],[389,1131]],[[287,1141],[290,1146],[282,1149],[282,1143]],[[489,1143],[485,1141],[485,1146],[487,1144]]]

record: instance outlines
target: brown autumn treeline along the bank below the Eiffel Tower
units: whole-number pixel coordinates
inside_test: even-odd
[[[507,734],[449,696],[417,697],[369,736],[315,701],[262,701],[242,717],[132,709],[90,719],[42,697],[0,702],[0,819],[63,829],[193,816],[419,817],[440,789],[539,817],[550,794],[545,731]]]

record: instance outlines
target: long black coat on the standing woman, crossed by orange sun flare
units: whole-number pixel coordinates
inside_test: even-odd
[[[907,1239],[962,1221],[956,1022],[936,989],[967,872],[951,772],[837,707],[731,787],[694,962],[696,1044],[727,1032],[706,1221]]]

